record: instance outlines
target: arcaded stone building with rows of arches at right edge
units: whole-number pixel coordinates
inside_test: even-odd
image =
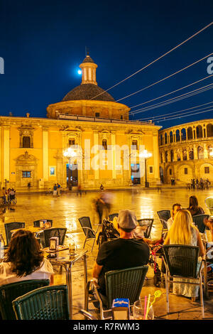
[[[213,182],[213,119],[190,122],[159,131],[160,179],[176,184],[191,179]]]

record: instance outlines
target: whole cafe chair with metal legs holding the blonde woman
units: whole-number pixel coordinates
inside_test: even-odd
[[[163,246],[163,261],[165,263],[165,291],[166,291],[166,310],[169,311],[169,284],[181,283],[200,286],[200,303],[202,318],[204,318],[203,283],[205,260],[202,260],[197,274],[197,261],[199,247],[187,246],[182,244],[165,244]],[[177,281],[176,279],[187,279],[187,282]]]

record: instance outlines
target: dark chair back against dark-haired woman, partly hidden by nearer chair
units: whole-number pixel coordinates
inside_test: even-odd
[[[48,286],[49,279],[29,279],[0,286],[0,313],[2,320],[16,320],[12,301],[24,293]]]

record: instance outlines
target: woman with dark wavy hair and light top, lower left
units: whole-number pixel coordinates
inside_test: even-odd
[[[28,279],[50,279],[53,284],[53,274],[53,266],[44,259],[33,233],[26,230],[14,233],[0,264],[0,285]]]

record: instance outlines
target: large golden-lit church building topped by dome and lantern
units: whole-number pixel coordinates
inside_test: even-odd
[[[50,104],[47,118],[0,117],[1,187],[123,188],[131,180],[144,185],[144,149],[152,153],[148,181],[159,181],[160,126],[129,121],[129,107],[97,85],[97,65],[89,55],[80,68],[81,85]]]

